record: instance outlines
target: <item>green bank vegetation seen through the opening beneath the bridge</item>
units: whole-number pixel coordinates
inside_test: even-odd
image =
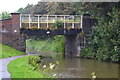
[[[64,37],[60,35],[54,36],[54,37],[51,37],[51,36],[34,37],[31,39],[28,39],[26,42],[26,45],[27,45],[27,49],[34,50],[34,52],[36,53],[43,52],[43,55],[44,53],[48,53],[48,55],[51,57],[63,57],[64,56],[63,55]]]

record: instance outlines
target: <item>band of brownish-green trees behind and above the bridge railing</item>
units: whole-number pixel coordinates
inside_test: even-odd
[[[112,7],[119,7],[117,2],[38,2],[36,5],[27,5],[20,8],[21,13],[55,14],[55,15],[80,15],[90,13],[94,17],[111,17],[107,14],[112,11]]]

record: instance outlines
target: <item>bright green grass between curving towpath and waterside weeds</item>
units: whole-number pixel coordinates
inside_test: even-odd
[[[11,78],[47,78],[28,64],[28,58],[29,56],[18,58],[8,64],[8,71],[11,74]]]

